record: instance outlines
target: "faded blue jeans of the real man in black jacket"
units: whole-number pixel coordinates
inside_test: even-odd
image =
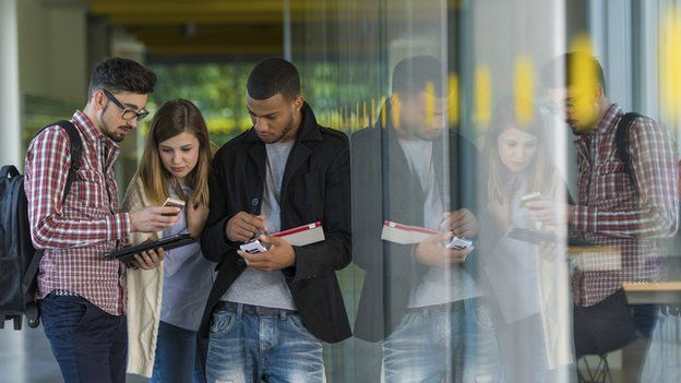
[[[300,323],[300,316],[279,310],[258,315],[217,309],[213,312],[208,383],[322,383],[322,343]]]

